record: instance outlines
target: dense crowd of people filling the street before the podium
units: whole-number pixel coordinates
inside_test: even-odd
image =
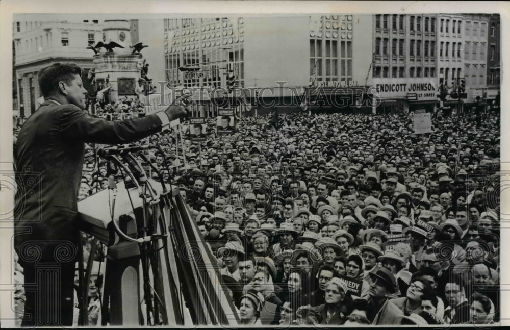
[[[208,118],[203,142],[184,121],[142,142],[159,147],[149,159],[179,187],[242,324],[498,321],[498,113],[440,116],[425,135],[412,114],[269,119],[216,135]],[[96,149],[79,199],[108,187]]]

